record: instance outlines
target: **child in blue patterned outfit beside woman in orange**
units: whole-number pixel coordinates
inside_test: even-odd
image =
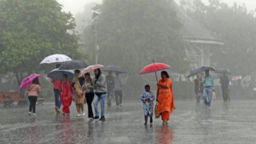
[[[141,101],[143,101],[143,110],[144,110],[144,118],[145,125],[148,123],[148,117],[150,117],[150,124],[153,123],[153,110],[154,110],[154,94],[150,91],[150,85],[145,85],[145,91],[143,91],[143,95],[141,95]]]

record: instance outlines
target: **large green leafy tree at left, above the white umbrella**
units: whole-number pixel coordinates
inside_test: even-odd
[[[18,84],[45,70],[39,62],[52,54],[82,58],[71,13],[55,0],[8,0],[0,5],[0,69],[14,72]]]

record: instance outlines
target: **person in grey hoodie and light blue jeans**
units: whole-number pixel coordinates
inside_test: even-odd
[[[98,111],[98,103],[101,101],[101,118],[100,121],[105,121],[105,101],[107,97],[107,82],[105,76],[102,74],[101,69],[94,70],[95,78],[93,78],[93,84],[96,89],[96,96],[95,96],[95,102],[94,102],[94,108],[95,108],[95,117],[94,119],[99,118],[99,111]]]

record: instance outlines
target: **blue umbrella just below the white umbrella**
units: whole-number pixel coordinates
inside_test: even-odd
[[[71,71],[71,70],[59,70],[58,68],[49,72],[47,77],[61,81],[62,78],[63,78],[63,74],[67,74],[67,79],[69,81],[73,80],[73,76],[74,76],[73,71]]]

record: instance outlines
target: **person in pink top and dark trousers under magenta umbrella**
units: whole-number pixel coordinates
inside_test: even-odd
[[[41,91],[41,86],[38,78],[35,78],[32,81],[32,84],[29,84],[27,86],[27,91],[28,91],[28,100],[30,102],[28,114],[29,115],[32,114],[33,116],[36,116],[37,115],[36,104],[38,101],[38,93],[40,93]]]

